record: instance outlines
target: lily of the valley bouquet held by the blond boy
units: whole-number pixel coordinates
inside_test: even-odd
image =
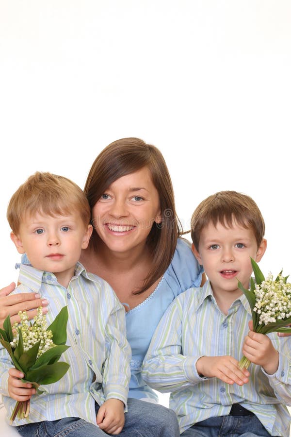
[[[8,351],[17,370],[24,373],[22,382],[29,382],[37,390],[43,384],[59,381],[66,373],[69,364],[59,362],[63,352],[69,346],[66,342],[67,307],[61,309],[57,317],[47,328],[46,316],[38,308],[34,323],[28,321],[26,311],[19,312],[20,324],[11,326],[8,316],[0,329],[0,342]],[[30,400],[18,401],[10,418],[12,423],[16,416],[25,419],[29,416]]]

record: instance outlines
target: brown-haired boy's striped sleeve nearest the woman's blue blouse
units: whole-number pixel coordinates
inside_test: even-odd
[[[175,299],[163,315],[143,363],[144,380],[163,393],[205,380],[196,370],[200,356],[182,354],[182,298],[183,295]]]

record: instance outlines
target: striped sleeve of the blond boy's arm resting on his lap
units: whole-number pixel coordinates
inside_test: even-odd
[[[126,338],[125,310],[114,296],[115,305],[105,325],[106,358],[103,366],[105,399],[119,399],[127,409],[131,349]]]

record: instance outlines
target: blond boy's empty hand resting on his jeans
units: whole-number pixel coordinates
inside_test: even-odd
[[[119,399],[108,399],[99,408],[97,425],[107,434],[119,434],[124,426],[124,403]]]

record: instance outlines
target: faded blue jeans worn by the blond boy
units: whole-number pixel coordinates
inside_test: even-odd
[[[96,414],[99,405],[95,404]],[[104,437],[106,434],[92,423],[76,417],[28,423],[17,426],[23,437]],[[128,399],[128,412],[120,437],[179,437],[176,414],[162,405]]]

